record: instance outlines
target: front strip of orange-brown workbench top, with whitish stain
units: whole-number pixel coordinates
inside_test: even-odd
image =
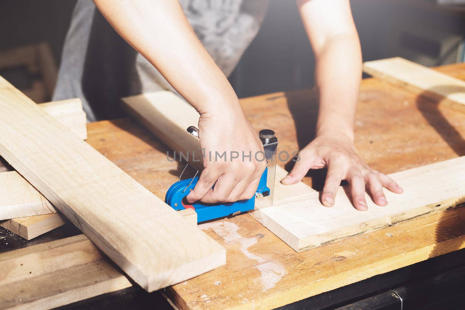
[[[463,220],[455,208],[299,253],[248,215],[201,224],[228,264],[166,293],[179,309],[274,309],[463,249]]]

